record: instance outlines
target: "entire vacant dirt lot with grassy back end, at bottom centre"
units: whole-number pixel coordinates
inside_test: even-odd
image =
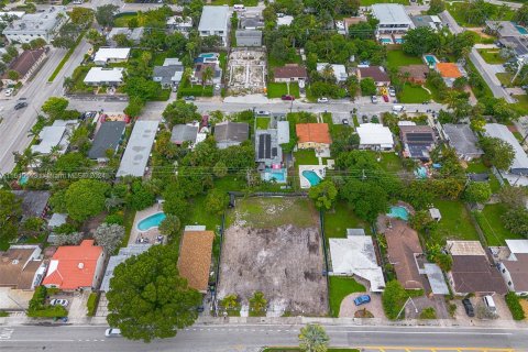
[[[228,223],[218,287],[220,299],[234,293],[242,300],[242,310],[246,310],[249,298],[262,290],[268,301],[267,316],[327,314],[324,260],[311,201],[238,200]]]

